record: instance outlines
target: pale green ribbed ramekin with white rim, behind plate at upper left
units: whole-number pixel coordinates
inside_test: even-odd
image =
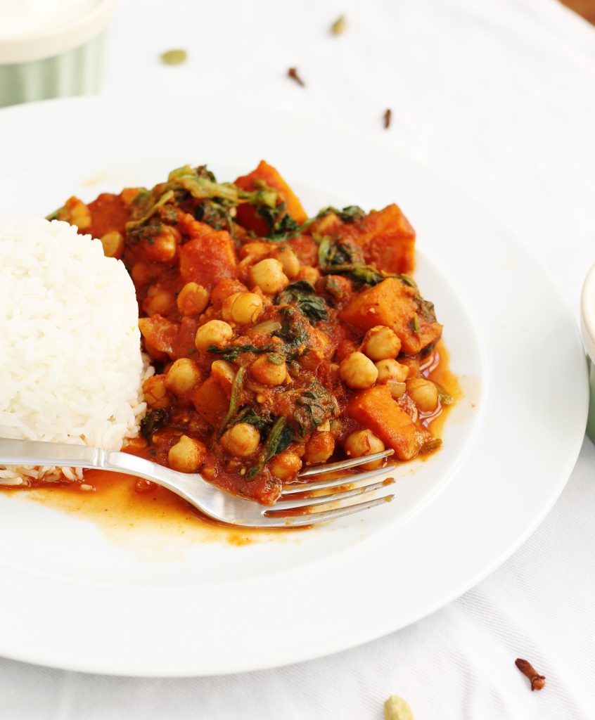
[[[97,0],[52,30],[0,41],[0,107],[99,91],[104,36],[117,0]]]

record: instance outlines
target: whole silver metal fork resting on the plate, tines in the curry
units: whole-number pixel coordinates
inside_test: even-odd
[[[301,478],[341,472],[375,460],[384,459],[393,454],[385,450],[372,455],[351,458],[342,462],[308,467],[299,476]],[[252,500],[238,498],[220,487],[203,480],[198,473],[176,472],[169,467],[158,465],[135,455],[114,450],[67,445],[30,440],[9,440],[0,438],[0,464],[33,465],[57,467],[83,467],[124,472],[163,485],[187,500],[194,508],[210,518],[231,525],[254,528],[293,528],[314,525],[328,520],[341,518],[361,510],[374,508],[381,503],[390,502],[394,495],[382,495],[363,502],[351,503],[350,500],[367,498],[392,485],[393,478],[378,480],[386,475],[394,464],[376,470],[358,474],[342,474],[326,480],[298,482],[284,487],[275,505],[259,505]],[[341,486],[349,489],[341,490]],[[321,494],[305,498],[303,493],[321,491]],[[300,497],[302,495],[302,497]],[[325,508],[332,503],[333,507]],[[295,514],[298,512],[299,514]]]

